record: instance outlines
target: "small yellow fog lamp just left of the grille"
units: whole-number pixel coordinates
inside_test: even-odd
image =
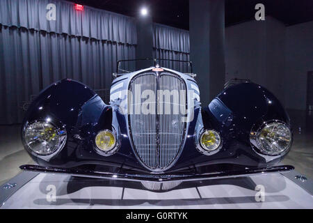
[[[110,130],[103,130],[99,132],[95,138],[95,144],[100,151],[109,152],[116,144],[116,139]]]

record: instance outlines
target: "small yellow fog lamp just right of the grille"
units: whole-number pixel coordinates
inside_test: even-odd
[[[206,130],[200,136],[200,145],[206,151],[215,151],[220,147],[220,134],[214,130]]]

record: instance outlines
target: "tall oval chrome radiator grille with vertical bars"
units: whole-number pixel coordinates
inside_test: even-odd
[[[129,130],[138,157],[150,169],[166,169],[179,154],[186,123],[186,84],[163,72],[143,73],[129,85]]]

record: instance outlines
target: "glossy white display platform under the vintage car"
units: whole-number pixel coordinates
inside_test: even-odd
[[[0,205],[1,208],[313,208],[312,191],[312,180],[296,171],[168,183],[24,171],[1,186]]]

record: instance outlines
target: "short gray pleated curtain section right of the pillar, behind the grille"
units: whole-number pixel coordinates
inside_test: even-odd
[[[153,25],[154,58],[189,61],[189,32],[162,24]],[[188,63],[177,61],[161,61],[161,66],[190,72]]]

